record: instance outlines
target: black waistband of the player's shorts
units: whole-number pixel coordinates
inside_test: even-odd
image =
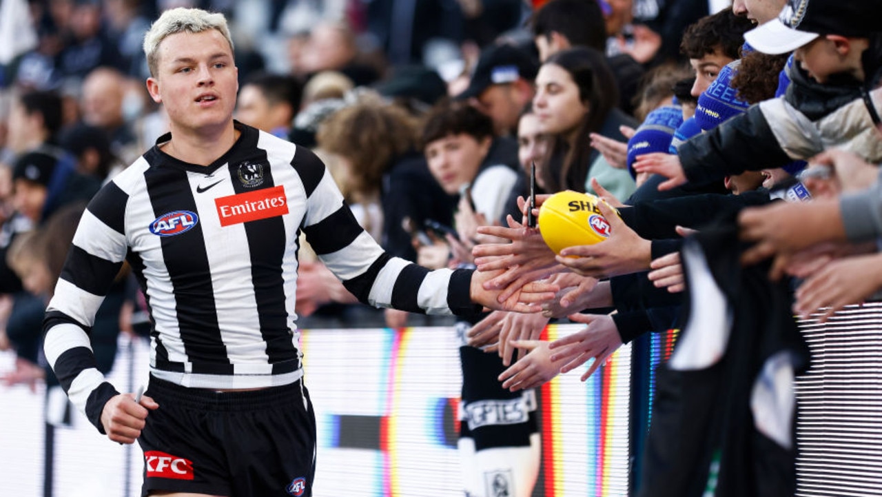
[[[218,392],[208,388],[183,387],[171,381],[150,375],[146,395],[156,397],[157,402],[172,401],[178,407],[201,410],[254,410],[278,407],[280,404],[304,404],[306,393],[303,380],[288,385],[232,392]]]

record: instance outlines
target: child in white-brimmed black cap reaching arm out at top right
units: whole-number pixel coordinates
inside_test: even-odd
[[[760,52],[796,49],[786,93],[689,140],[678,157],[641,156],[635,169],[669,177],[660,185],[668,189],[780,167],[827,147],[882,161],[880,13],[872,0],[789,0],[778,19],[744,35]]]

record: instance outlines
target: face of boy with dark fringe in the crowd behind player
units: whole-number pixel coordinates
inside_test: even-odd
[[[467,133],[447,135],[426,145],[429,170],[448,195],[460,192],[460,187],[471,183],[478,168],[490,150],[490,137],[475,139]]]

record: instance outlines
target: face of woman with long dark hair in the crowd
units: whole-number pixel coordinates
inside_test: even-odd
[[[579,87],[569,72],[557,64],[542,64],[536,74],[533,112],[543,133],[560,134],[574,130],[588,107],[579,98]]]

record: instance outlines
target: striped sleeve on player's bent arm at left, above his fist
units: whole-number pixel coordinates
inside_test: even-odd
[[[123,265],[127,200],[128,195],[111,182],[86,207],[43,321],[43,347],[52,371],[71,403],[101,433],[101,410],[118,392],[98,371],[89,333]]]

